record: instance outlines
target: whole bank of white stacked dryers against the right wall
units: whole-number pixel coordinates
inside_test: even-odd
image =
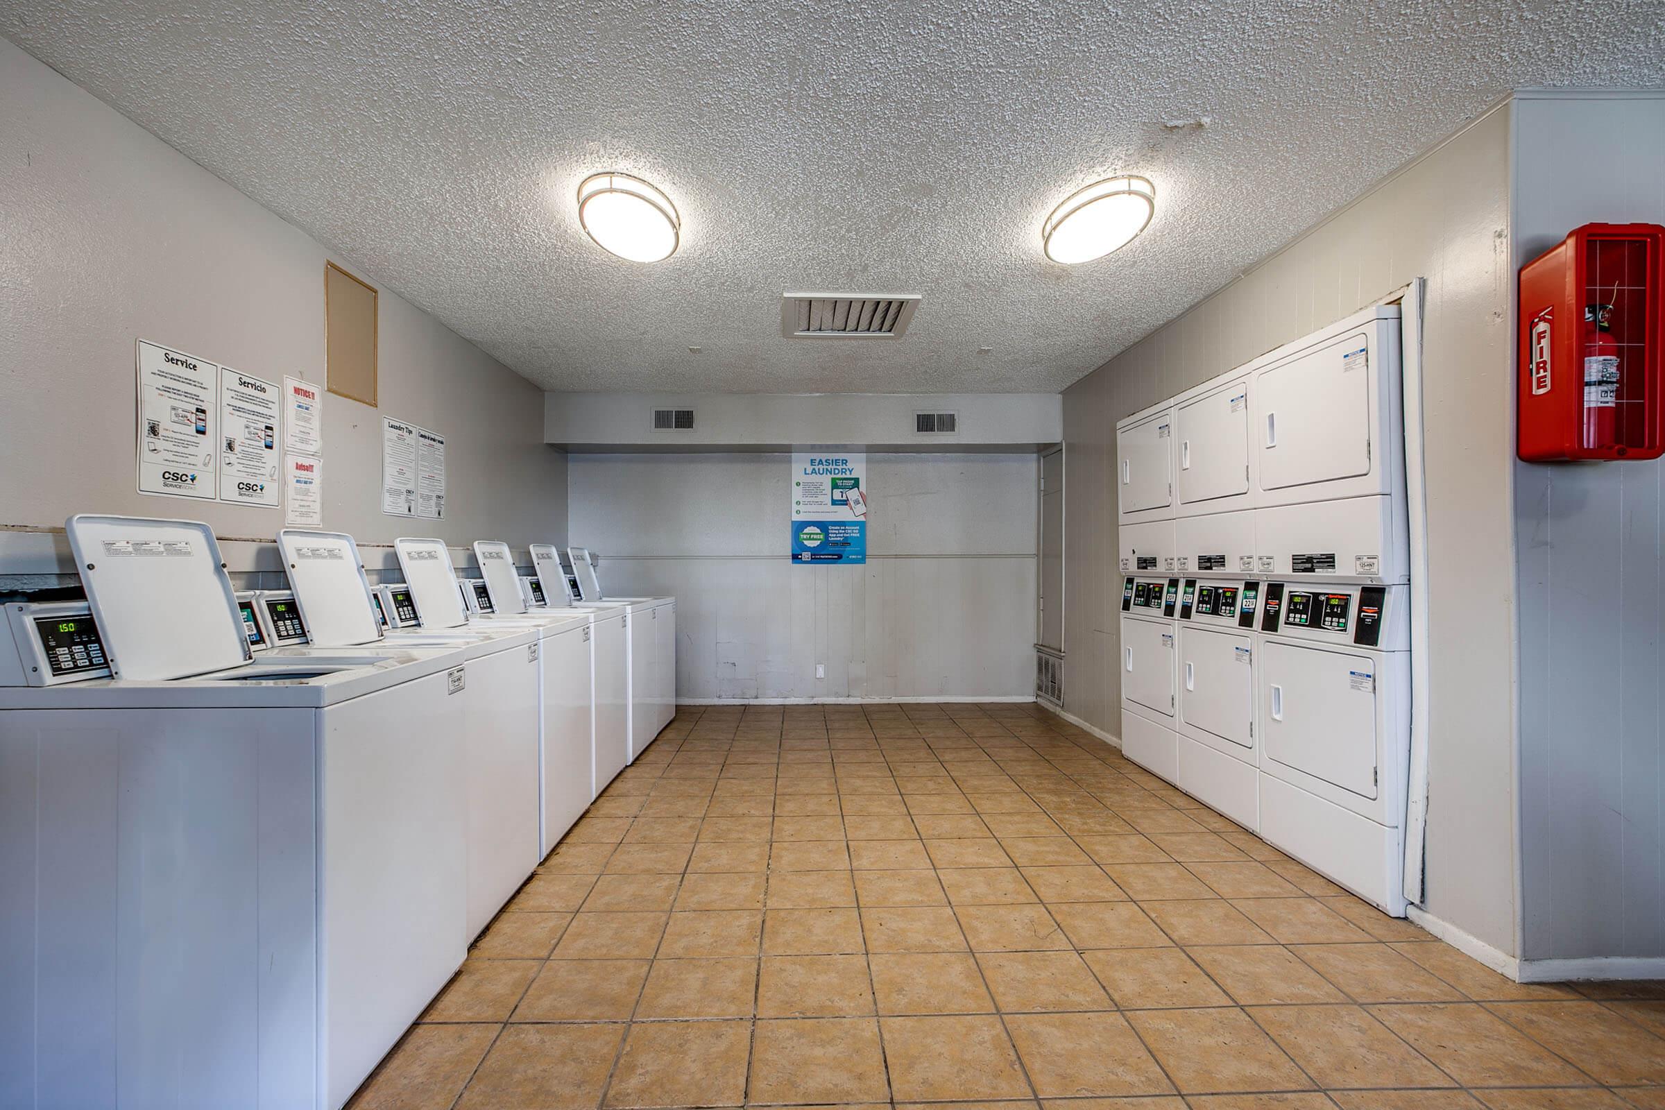
[[[1365,310],[1117,424],[1127,757],[1395,915],[1410,757],[1399,323]],[[1179,594],[1161,617],[1136,604],[1156,581]]]

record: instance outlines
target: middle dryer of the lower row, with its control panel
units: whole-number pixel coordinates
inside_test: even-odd
[[[1187,577],[1179,592],[1179,731],[1174,785],[1245,829],[1257,827],[1254,724],[1257,579]]]

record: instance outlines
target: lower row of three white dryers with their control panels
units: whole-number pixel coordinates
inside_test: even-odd
[[[1405,914],[1407,586],[1122,579],[1122,751]]]

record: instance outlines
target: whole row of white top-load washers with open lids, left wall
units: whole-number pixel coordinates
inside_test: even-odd
[[[0,1105],[341,1107],[674,716],[676,602],[588,551],[77,516],[0,639]],[[564,556],[564,557],[563,557]]]

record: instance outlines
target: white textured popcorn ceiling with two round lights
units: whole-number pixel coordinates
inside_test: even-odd
[[[1665,85],[1658,0],[0,0],[0,33],[551,389],[1057,389],[1505,90]],[[579,230],[614,168],[679,206],[669,261]],[[1046,261],[1114,171],[1146,235]],[[788,290],[924,303],[789,341]]]

